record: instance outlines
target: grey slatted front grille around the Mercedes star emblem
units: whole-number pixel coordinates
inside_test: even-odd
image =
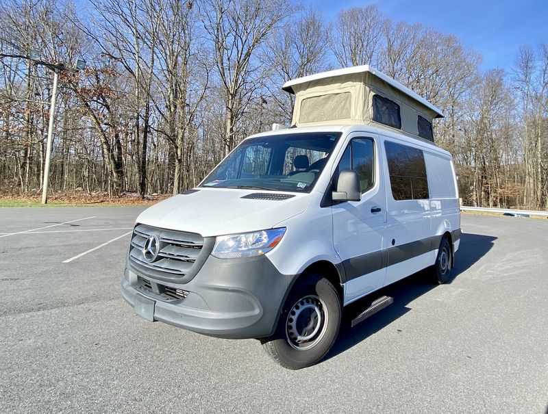
[[[149,262],[142,250],[152,235],[158,238],[160,250],[158,256]],[[203,237],[199,234],[138,224],[132,235],[129,261],[145,276],[180,279],[192,271],[202,247]]]

